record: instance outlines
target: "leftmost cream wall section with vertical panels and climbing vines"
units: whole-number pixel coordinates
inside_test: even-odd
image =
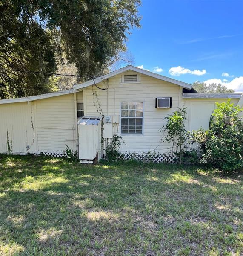
[[[7,130],[12,153],[37,151],[34,105],[32,102],[9,103],[0,105],[0,153],[7,153]],[[10,145],[11,146],[11,145]]]

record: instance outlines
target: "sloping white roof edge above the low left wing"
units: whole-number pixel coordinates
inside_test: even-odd
[[[28,102],[28,101],[37,100],[37,99],[46,99],[46,98],[51,98],[51,97],[55,97],[55,96],[65,95],[65,94],[69,94],[69,93],[78,93],[78,90],[73,90],[73,89],[62,90],[62,91],[57,91],[54,93],[45,93],[45,94],[29,96],[29,97],[14,98],[14,99],[1,99],[0,104]]]

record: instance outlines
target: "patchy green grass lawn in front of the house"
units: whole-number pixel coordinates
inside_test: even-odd
[[[242,174],[0,156],[0,255],[243,255]]]

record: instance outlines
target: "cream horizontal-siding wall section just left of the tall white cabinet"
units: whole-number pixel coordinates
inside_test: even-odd
[[[34,102],[37,114],[38,151],[77,149],[74,94]]]

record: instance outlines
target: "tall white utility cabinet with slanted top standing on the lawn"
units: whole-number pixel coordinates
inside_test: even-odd
[[[83,116],[78,121],[78,158],[94,160],[101,151],[101,118]]]

